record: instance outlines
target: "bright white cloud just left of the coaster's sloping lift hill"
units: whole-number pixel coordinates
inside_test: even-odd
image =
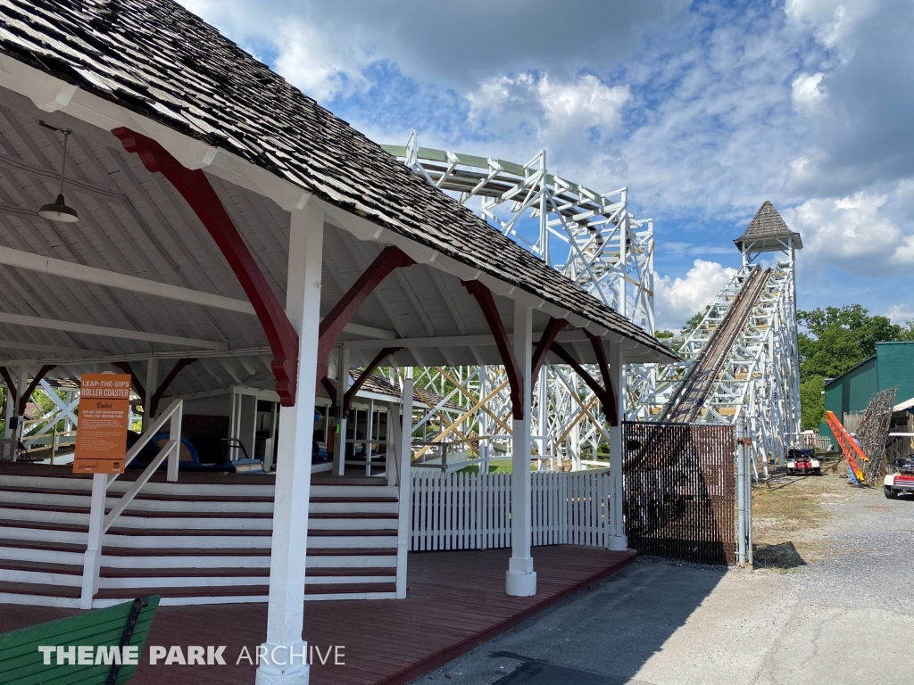
[[[704,311],[711,300],[737,273],[714,261],[696,259],[685,279],[661,276],[654,281],[657,330],[682,328],[697,311]]]

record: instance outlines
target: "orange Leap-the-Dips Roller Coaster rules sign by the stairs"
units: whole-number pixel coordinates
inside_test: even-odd
[[[129,418],[129,374],[82,374],[73,473],[123,473]]]

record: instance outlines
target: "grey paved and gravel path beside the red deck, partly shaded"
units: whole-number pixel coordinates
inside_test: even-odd
[[[914,499],[828,485],[796,484],[826,513],[812,530],[785,526],[799,565],[725,571],[641,558],[415,682],[908,685]]]

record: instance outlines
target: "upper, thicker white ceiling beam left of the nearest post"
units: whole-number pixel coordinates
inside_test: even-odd
[[[141,292],[146,295],[154,295],[168,300],[191,302],[204,307],[238,311],[242,314],[254,313],[253,305],[246,300],[235,300],[221,295],[213,295],[208,292],[200,292],[199,290],[190,290],[167,283],[160,283],[155,280],[127,276],[126,274],[117,273],[116,271],[86,267],[82,264],[64,261],[63,259],[42,257],[41,255],[13,248],[0,247],[0,264],[17,267],[19,269],[37,271],[39,273],[46,273],[63,279],[75,279],[86,283],[107,286],[109,288]]]

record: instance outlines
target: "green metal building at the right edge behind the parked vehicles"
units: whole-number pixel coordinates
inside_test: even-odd
[[[875,356],[825,383],[825,409],[844,421],[845,414],[866,409],[874,393],[896,385],[896,403],[914,397],[914,342],[877,342]],[[820,432],[832,437],[826,424]]]

